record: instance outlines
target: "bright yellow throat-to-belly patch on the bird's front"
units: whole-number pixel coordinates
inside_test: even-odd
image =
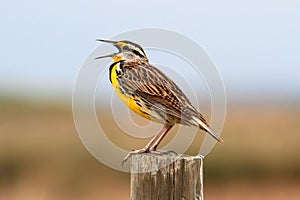
[[[114,87],[117,95],[123,101],[123,103],[125,105],[127,105],[135,113],[137,113],[138,115],[140,115],[146,119],[150,119],[150,116],[145,114],[145,112],[147,112],[147,111],[144,110],[141,106],[137,105],[136,100],[132,96],[123,94],[121,92],[121,90],[120,90],[121,86],[119,84],[118,75],[117,75],[117,71],[119,71],[119,70],[120,70],[120,64],[118,63],[118,64],[114,65],[114,67],[110,71],[111,84]]]

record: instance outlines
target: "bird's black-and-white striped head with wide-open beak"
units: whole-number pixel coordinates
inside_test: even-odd
[[[127,41],[127,40],[111,41],[111,40],[97,39],[97,41],[112,44],[119,51],[117,53],[112,53],[112,54],[105,55],[105,56],[99,56],[99,57],[96,57],[95,59],[111,57],[111,58],[113,58],[114,62],[118,62],[120,60],[125,60],[125,61],[144,60],[144,61],[148,61],[147,56],[146,56],[143,48],[140,45],[136,44],[136,43],[133,43],[133,42],[130,42],[130,41]]]

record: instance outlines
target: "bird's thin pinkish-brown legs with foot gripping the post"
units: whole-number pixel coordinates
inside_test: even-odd
[[[124,163],[134,154],[159,153],[156,151],[156,148],[172,127],[173,125],[171,124],[165,124],[164,127],[150,140],[150,142],[148,142],[148,144],[144,148],[129,152],[123,159],[122,165],[124,165]]]

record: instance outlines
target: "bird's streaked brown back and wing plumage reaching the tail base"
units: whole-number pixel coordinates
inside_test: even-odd
[[[118,81],[123,91],[140,99],[148,109],[155,110],[160,115],[165,114],[165,120],[170,124],[198,126],[192,117],[207,124],[182,90],[148,62],[124,62],[123,73]]]

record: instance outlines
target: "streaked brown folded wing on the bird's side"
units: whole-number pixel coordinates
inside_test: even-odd
[[[126,63],[119,81],[125,91],[141,98],[152,109],[158,109],[177,120],[187,117],[185,111],[190,105],[189,100],[170,78],[154,66]]]

